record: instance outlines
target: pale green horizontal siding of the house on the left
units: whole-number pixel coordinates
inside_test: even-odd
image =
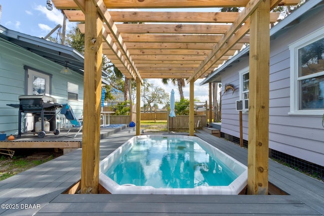
[[[31,53],[0,38],[0,133],[18,134],[18,109],[7,104],[19,104],[19,96],[25,95],[25,69],[28,67],[52,74],[52,97],[57,103],[69,103],[76,116],[82,115],[83,76],[76,72],[64,75],[62,66]],[[78,84],[79,101],[67,101],[67,81]]]

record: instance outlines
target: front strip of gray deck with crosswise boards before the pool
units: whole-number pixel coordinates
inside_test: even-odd
[[[257,206],[257,207],[256,207]],[[292,196],[238,195],[59,195],[38,213],[66,212],[151,214],[298,214],[319,215]],[[68,209],[68,210],[67,210]],[[37,214],[38,215],[38,214]]]

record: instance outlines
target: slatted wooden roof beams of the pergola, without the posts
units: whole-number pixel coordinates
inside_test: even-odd
[[[69,21],[85,21],[84,0],[52,2],[64,11]],[[206,77],[249,43],[249,16],[261,2],[93,0],[104,21],[103,54],[127,78],[185,78],[188,82]],[[271,0],[271,9],[298,3],[299,0]],[[224,7],[242,10],[240,13],[184,12],[185,8]],[[178,12],[167,12],[167,8],[177,8]],[[270,22],[275,22],[278,16],[279,13],[271,13]],[[78,27],[85,31],[84,24]]]

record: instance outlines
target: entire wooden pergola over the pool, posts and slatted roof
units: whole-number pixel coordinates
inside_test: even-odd
[[[99,191],[102,54],[126,78],[136,80],[137,113],[140,113],[143,78],[185,78],[190,87],[189,135],[193,136],[194,81],[206,77],[243,44],[249,43],[248,193],[268,194],[269,24],[278,18],[277,13],[270,11],[278,5],[297,5],[299,0],[53,0],[53,3],[69,21],[85,21],[78,26],[85,33],[82,193]],[[182,10],[224,7],[240,7],[242,11]],[[178,11],[167,12],[168,8]],[[136,135],[140,135],[140,115],[136,124]]]

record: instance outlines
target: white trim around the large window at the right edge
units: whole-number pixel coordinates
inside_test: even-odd
[[[300,38],[289,45],[290,50],[290,112],[289,115],[323,115],[324,109],[321,110],[299,110],[298,109],[298,50],[312,42],[324,38],[324,27],[313,31],[312,33]],[[318,74],[317,74],[318,75]],[[317,76],[316,75],[316,76]],[[312,76],[312,75],[310,75]]]

